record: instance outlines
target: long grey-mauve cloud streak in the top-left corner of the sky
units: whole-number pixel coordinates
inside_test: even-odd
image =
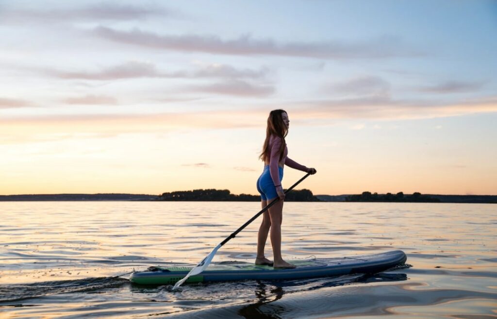
[[[28,9],[2,7],[3,23],[45,22],[57,23],[64,21],[127,21],[143,20],[149,17],[177,16],[172,10],[156,5],[129,5],[104,2],[95,5],[76,8]]]

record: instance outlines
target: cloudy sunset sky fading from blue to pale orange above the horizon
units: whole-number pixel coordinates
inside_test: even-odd
[[[497,194],[497,1],[0,0],[0,194]],[[305,173],[285,168],[283,186]]]

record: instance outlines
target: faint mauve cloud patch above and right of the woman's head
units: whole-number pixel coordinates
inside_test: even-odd
[[[328,90],[328,88],[326,88]],[[377,76],[365,76],[330,86],[335,92],[356,96],[388,96],[390,83]]]

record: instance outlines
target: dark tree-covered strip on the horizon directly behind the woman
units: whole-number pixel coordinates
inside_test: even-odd
[[[220,201],[220,202],[259,202],[259,195],[235,195],[227,189],[194,189],[159,195],[160,201]],[[293,190],[285,196],[286,202],[319,202],[308,189]]]

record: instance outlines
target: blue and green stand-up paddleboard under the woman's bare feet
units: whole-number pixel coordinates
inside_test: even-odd
[[[254,264],[217,264],[210,265],[198,275],[189,277],[186,282],[303,279],[351,273],[376,273],[404,264],[406,260],[406,254],[396,250],[374,255],[293,260],[290,262],[297,266],[293,269],[275,269],[272,266]],[[147,271],[133,272],[130,280],[142,285],[174,284],[191,269],[192,267],[186,266],[154,266]]]

